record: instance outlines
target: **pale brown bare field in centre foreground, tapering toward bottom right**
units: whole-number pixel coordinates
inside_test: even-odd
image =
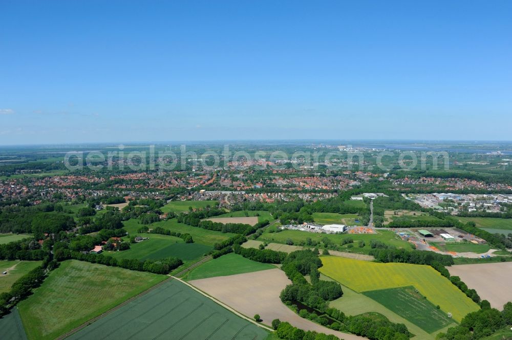
[[[188,283],[249,318],[254,314],[260,314],[266,325],[270,325],[274,319],[279,319],[304,330],[334,334],[345,340],[368,340],[315,324],[290,310],[279,299],[281,290],[291,283],[281,269],[193,280]]]

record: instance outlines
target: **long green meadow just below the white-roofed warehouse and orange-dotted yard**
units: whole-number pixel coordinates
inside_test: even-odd
[[[290,238],[295,245],[301,245],[302,242],[306,242],[308,237],[318,242],[320,242],[323,237],[327,237],[335,244],[340,245],[343,239],[352,238],[355,242],[353,247],[348,248],[348,245],[346,244],[342,247],[343,251],[368,254],[371,249],[371,240],[382,241],[386,244],[394,245],[397,248],[404,248],[406,250],[412,249],[409,242],[403,241],[396,236],[395,233],[388,230],[379,230],[377,234],[319,234],[303,232],[300,230],[283,230],[279,233],[270,233],[271,230],[272,229],[270,228],[265,229],[263,234],[258,238],[258,241],[285,243],[286,239]],[[366,245],[359,248],[357,245],[359,240],[365,241]]]

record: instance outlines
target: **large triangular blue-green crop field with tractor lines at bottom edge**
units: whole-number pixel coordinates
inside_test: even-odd
[[[68,339],[264,340],[268,334],[185,284],[169,280]]]

